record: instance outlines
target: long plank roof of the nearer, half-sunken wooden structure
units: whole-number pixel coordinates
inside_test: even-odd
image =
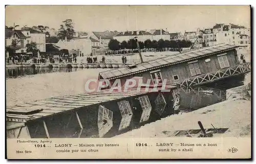
[[[176,86],[168,86],[175,88]],[[76,110],[85,106],[100,104],[127,97],[143,95],[148,92],[128,90],[127,92],[110,92],[103,90],[101,92],[83,93],[77,95],[52,97],[42,100],[36,100],[23,104],[17,104],[6,107],[6,116],[8,121],[27,122],[41,117]]]

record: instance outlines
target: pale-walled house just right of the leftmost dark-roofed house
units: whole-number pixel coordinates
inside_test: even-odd
[[[26,44],[35,42],[40,52],[46,52],[46,34],[31,28],[22,28],[22,33],[27,37]],[[26,46],[26,45],[25,45]]]

